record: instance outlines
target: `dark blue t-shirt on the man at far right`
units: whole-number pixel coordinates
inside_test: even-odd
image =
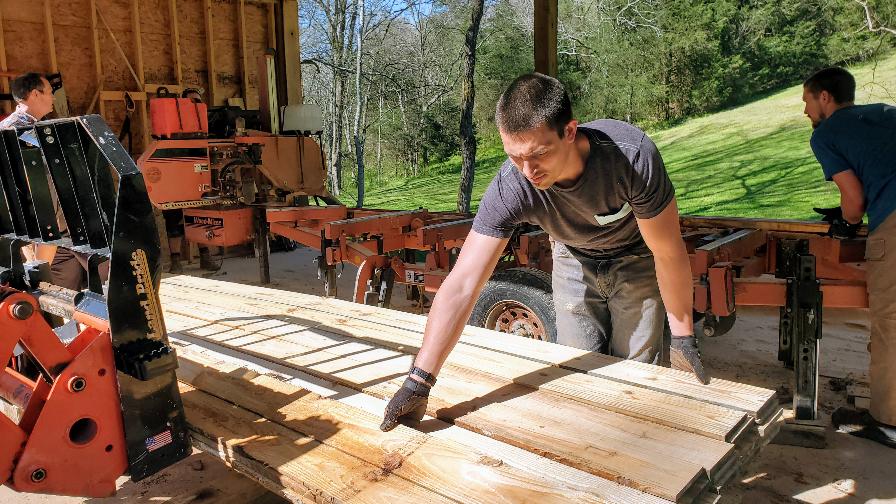
[[[825,180],[846,170],[859,177],[870,231],[896,210],[896,107],[839,109],[815,128],[809,144]]]

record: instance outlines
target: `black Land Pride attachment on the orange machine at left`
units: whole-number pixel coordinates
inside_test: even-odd
[[[98,115],[0,135],[0,278],[43,297],[56,315],[70,308],[108,322],[129,473],[139,481],[191,452],[159,304],[161,249],[143,176]],[[67,229],[60,229],[57,207]],[[41,286],[48,275],[26,275],[21,248],[28,243],[86,256],[88,290]],[[100,265],[106,261],[104,288]],[[169,434],[170,442],[159,442]]]

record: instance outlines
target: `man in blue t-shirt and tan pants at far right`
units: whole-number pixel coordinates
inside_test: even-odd
[[[831,234],[855,236],[868,214],[871,409],[840,408],[831,420],[841,431],[896,448],[896,107],[855,105],[855,89],[853,76],[838,67],[803,83],[812,152],[825,179],[840,189]]]

